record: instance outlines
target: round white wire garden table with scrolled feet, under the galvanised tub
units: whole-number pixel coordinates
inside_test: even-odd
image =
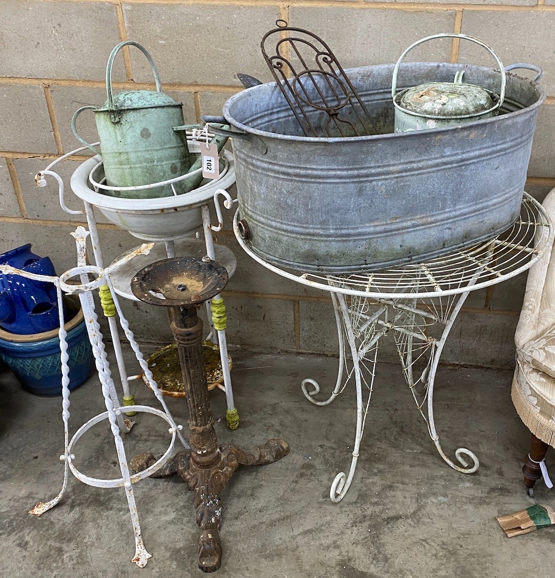
[[[224,192],[217,191],[215,197],[218,194]],[[229,204],[230,199],[226,206]],[[216,209],[219,210],[217,202]],[[551,246],[553,225],[542,206],[525,192],[519,219],[493,239],[426,262],[352,275],[281,269],[261,258],[242,238],[237,213],[233,226],[239,244],[255,261],[286,279],[329,291],[331,295],[339,338],[335,387],[327,399],[316,398],[320,385],[313,379],[303,380],[301,387],[310,402],[323,406],[331,403],[354,377],[357,397],[354,450],[348,474],[339,472],[333,480],[329,492],[332,502],[340,502],[351,485],[376,377],[378,344],[389,332],[393,333],[404,377],[438,453],[451,468],[474,473],[479,466],[478,457],[460,447],[455,451],[458,463],[451,460],[442,450],[436,430],[433,394],[441,352],[471,291],[519,275]],[[432,331],[436,325],[438,331]]]

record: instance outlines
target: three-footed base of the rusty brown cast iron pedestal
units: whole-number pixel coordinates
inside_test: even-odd
[[[192,451],[193,448],[192,448]],[[171,476],[177,473],[194,491],[196,520],[201,535],[198,540],[198,568],[203,572],[215,572],[222,562],[222,542],[219,527],[222,521],[222,499],[220,493],[239,465],[261,466],[273,464],[289,453],[287,442],[270,439],[264,446],[250,450],[222,445],[218,448],[215,463],[200,465],[188,450],[180,451],[151,477]],[[145,464],[156,461],[153,454],[140,454],[131,461],[133,471],[143,470]]]

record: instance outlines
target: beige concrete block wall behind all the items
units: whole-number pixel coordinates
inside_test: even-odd
[[[504,64],[542,66],[548,98],[539,113],[527,190],[542,199],[555,186],[555,0],[3,0],[0,2],[0,252],[30,242],[50,255],[59,272],[74,265],[69,233],[81,216],[58,205],[54,181],[36,188],[33,177],[79,146],[70,129],[73,112],[102,105],[108,54],[133,39],[151,51],[163,88],[183,102],[185,121],[220,114],[241,90],[237,72],[262,80],[271,75],[260,54],[261,36],[277,18],[321,35],[345,67],[395,62],[415,40],[437,32],[463,32],[489,43]],[[487,54],[456,40],[427,43],[415,60],[486,64]],[[152,88],[142,55],[122,51],[115,89]],[[92,113],[78,128],[95,140]],[[85,157],[65,161],[69,176]],[[67,193],[67,204],[80,208]],[[327,294],[282,279],[250,260],[230,227],[217,242],[230,247],[237,273],[225,292],[232,344],[265,351],[336,353],[335,321]],[[99,215],[104,261],[136,246],[137,239]],[[453,328],[444,361],[508,367],[526,276],[472,294]],[[164,312],[126,302],[136,334],[169,339]],[[385,354],[395,354],[391,343]]]

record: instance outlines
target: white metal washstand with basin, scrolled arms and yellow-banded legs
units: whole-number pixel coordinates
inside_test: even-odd
[[[206,139],[206,131],[193,129],[188,131],[187,142],[189,151],[200,153],[200,140]],[[98,143],[93,143],[95,146]],[[88,147],[81,147],[62,155],[57,160],[47,166],[44,171],[40,171],[36,176],[36,183],[40,187],[46,186],[46,176],[54,177],[58,182],[59,203],[61,208],[69,214],[85,214],[88,229],[91,233],[92,251],[96,266],[103,268],[104,261],[102,250],[100,249],[100,239],[93,206],[118,227],[125,229],[138,239],[148,242],[155,242],[156,245],[150,253],[140,255],[133,261],[128,261],[122,266],[113,277],[115,291],[122,297],[137,301],[130,288],[130,280],[144,266],[166,257],[175,257],[176,250],[181,255],[192,255],[201,257],[208,255],[212,260],[220,262],[227,269],[231,277],[235,272],[237,260],[235,255],[227,247],[215,245],[212,239],[212,231],[219,231],[222,228],[210,224],[208,203],[211,202],[213,194],[217,189],[227,189],[235,183],[234,158],[230,151],[223,150],[220,153],[220,173],[217,179],[194,189],[192,192],[178,195],[175,193],[174,184],[183,179],[196,175],[202,171],[197,169],[186,175],[175,177],[174,179],[161,181],[140,187],[110,187],[105,183],[102,168],[102,158],[98,155],[82,162],[74,171],[71,179],[71,188],[74,194],[83,201],[84,210],[73,210],[67,207],[64,195],[64,184],[61,177],[52,171],[58,162],[65,160],[72,155],[87,150]],[[154,188],[170,185],[174,190],[173,197],[162,197],[152,199],[128,199],[113,197],[103,194],[100,191],[119,190],[139,190],[144,188]],[[204,240],[198,238],[198,231],[202,228]],[[193,236],[196,235],[197,238]],[[134,249],[132,250],[134,251]],[[132,252],[130,251],[130,252]],[[130,252],[118,257],[121,260]],[[220,360],[222,361],[223,386],[218,386],[226,394],[227,413],[226,419],[230,429],[235,429],[239,425],[239,416],[235,408],[233,391],[231,387],[230,367],[228,365],[228,351],[226,339],[226,313],[223,299],[216,295],[210,302],[206,303],[208,323],[211,332],[207,339],[215,342],[220,349]],[[117,360],[119,376],[123,389],[123,405],[134,403],[133,395],[129,390],[129,381],[139,379],[140,375],[129,375],[123,362],[121,343],[118,336],[117,323],[114,317],[108,317],[110,324],[110,334],[113,342],[114,353]],[[216,324],[216,327],[215,327]],[[128,412],[129,413],[129,412]]]

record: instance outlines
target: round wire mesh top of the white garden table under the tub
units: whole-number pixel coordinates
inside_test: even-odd
[[[283,277],[325,291],[370,298],[424,298],[455,295],[501,283],[529,269],[553,240],[553,225],[541,204],[524,192],[515,223],[493,239],[421,263],[407,263],[369,273],[332,275],[290,272],[269,264],[242,239],[234,220],[235,236],[254,260]]]

